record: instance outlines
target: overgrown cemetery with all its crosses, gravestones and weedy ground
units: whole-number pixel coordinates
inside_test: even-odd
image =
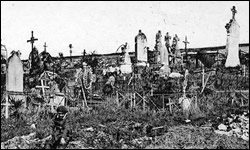
[[[58,148],[249,149],[248,66],[224,66],[235,65],[228,63],[235,59],[231,47],[238,45],[239,27],[232,21],[226,27],[228,41],[233,41],[226,46],[230,53],[226,64],[200,51],[196,56],[201,68],[189,61],[187,37],[181,53],[177,34],[170,45],[167,33],[163,44],[160,30],[153,63],[148,61],[148,41],[141,30],[135,37],[133,59],[125,44],[119,55],[87,56],[84,50],[80,60],[71,56],[72,44],[67,60],[49,59],[46,43],[39,54],[32,31],[27,41],[32,48],[30,72],[25,78],[18,52],[13,51],[7,61],[1,149],[43,149],[53,140],[54,123],[67,123],[69,130],[65,137],[69,141],[60,137],[66,144]],[[53,120],[57,108],[68,110],[65,122]]]

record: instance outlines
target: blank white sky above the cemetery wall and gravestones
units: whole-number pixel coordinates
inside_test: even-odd
[[[152,50],[155,35],[161,30],[180,38],[184,48],[222,46],[226,44],[225,25],[235,6],[240,25],[240,43],[249,43],[249,1],[1,1],[1,44],[8,52],[20,50],[27,59],[34,31],[34,45],[52,56],[82,55],[94,50],[98,54],[114,53],[128,43],[134,51],[139,29],[147,36]]]

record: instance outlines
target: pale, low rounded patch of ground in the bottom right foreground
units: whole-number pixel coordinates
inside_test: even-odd
[[[212,129],[190,125],[171,127],[147,149],[249,149],[249,143],[236,137],[218,135]]]

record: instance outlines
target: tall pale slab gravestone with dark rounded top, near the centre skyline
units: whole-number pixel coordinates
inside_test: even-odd
[[[135,37],[135,54],[138,62],[148,61],[147,37],[141,30]]]

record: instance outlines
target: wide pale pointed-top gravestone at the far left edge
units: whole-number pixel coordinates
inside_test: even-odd
[[[23,63],[20,59],[20,52],[12,52],[8,59],[7,68],[7,91],[9,96],[15,100],[24,100],[23,96]]]

